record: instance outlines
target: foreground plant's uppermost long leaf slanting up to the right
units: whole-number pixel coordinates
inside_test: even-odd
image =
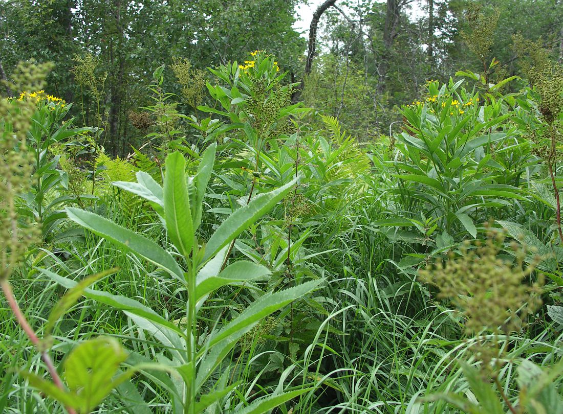
[[[297,178],[294,178],[291,182],[276,190],[256,196],[250,203],[231,214],[221,223],[221,226],[207,242],[203,263],[215,256],[219,250],[233,241],[235,237],[261,218],[262,215],[269,212],[285,197],[289,190],[297,183],[297,180]]]

